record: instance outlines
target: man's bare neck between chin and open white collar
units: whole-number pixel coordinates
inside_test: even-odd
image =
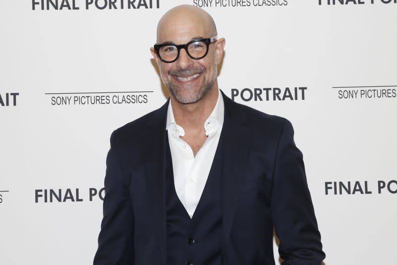
[[[215,81],[212,88],[198,102],[183,104],[171,96],[175,122],[185,131],[204,131],[203,124],[214,109],[218,94],[218,84]]]

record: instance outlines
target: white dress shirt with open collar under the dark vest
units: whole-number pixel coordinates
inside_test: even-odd
[[[180,138],[185,136],[185,131],[175,122],[171,102],[168,105],[166,129],[171,150],[175,190],[190,218],[193,217],[207,182],[222,131],[225,108],[219,90],[218,94],[215,107],[203,125],[208,138],[196,157],[189,144]]]

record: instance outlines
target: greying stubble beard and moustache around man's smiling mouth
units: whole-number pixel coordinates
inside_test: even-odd
[[[213,75],[211,76],[211,79],[207,82],[205,76],[203,75],[205,73],[205,68],[204,67],[190,67],[185,70],[170,70],[168,72],[169,75],[171,76],[191,76],[196,73],[200,73],[203,75],[203,84],[200,87],[199,91],[193,92],[192,93],[184,93],[186,91],[182,91],[178,83],[174,80],[167,80],[165,78],[164,72],[160,68],[160,77],[163,80],[164,85],[168,88],[170,91],[171,95],[180,103],[182,104],[189,104],[189,103],[196,103],[200,99],[202,99],[208,91],[211,90],[212,86],[214,85],[216,81],[216,76],[217,76],[217,67],[214,64],[213,66]],[[173,77],[172,77],[173,78]],[[189,85],[189,84],[187,84]],[[182,88],[183,89],[183,88]]]

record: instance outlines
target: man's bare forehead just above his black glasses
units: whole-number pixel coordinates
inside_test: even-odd
[[[157,30],[157,43],[185,44],[192,38],[208,38],[208,23],[200,16],[179,15],[162,21]]]

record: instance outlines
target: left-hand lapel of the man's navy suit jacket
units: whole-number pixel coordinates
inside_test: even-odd
[[[149,201],[149,218],[157,236],[163,264],[167,259],[166,205],[165,205],[165,155],[166,155],[166,117],[169,100],[154,112],[144,130],[143,142],[144,171]]]

